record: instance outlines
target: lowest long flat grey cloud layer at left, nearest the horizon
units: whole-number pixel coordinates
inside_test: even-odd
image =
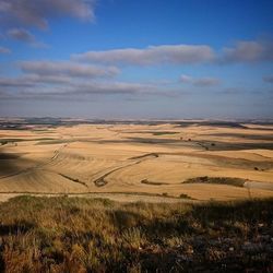
[[[129,82],[76,82],[43,85],[27,78],[0,79],[0,93],[5,98],[75,98],[88,95],[163,95],[169,94],[158,86]]]

